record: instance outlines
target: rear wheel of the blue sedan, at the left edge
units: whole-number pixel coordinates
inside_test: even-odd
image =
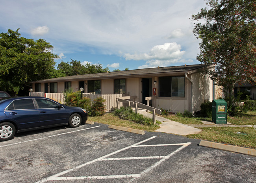
[[[0,141],[6,141],[13,138],[15,134],[15,126],[9,122],[0,124]]]

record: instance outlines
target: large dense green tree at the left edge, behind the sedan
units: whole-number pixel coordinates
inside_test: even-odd
[[[18,30],[0,34],[0,90],[15,94],[26,82],[54,77],[58,57],[50,43],[20,37]]]

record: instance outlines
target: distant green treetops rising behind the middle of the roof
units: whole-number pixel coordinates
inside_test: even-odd
[[[71,59],[71,62],[61,61],[61,63],[58,64],[57,70],[64,73],[66,76],[74,76],[77,74],[81,75],[108,72],[108,67],[103,68],[101,64],[91,65],[90,63],[82,65],[80,61]]]

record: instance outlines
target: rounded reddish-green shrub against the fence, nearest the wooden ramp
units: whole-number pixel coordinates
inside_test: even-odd
[[[94,103],[91,106],[89,116],[103,116],[106,113],[106,106],[104,105],[104,102],[106,102],[106,100],[102,97],[99,97],[93,101]]]

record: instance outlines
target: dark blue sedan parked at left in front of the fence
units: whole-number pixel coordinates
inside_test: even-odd
[[[76,128],[86,120],[85,109],[61,105],[49,98],[0,99],[0,141],[12,139],[16,132],[62,125]]]

